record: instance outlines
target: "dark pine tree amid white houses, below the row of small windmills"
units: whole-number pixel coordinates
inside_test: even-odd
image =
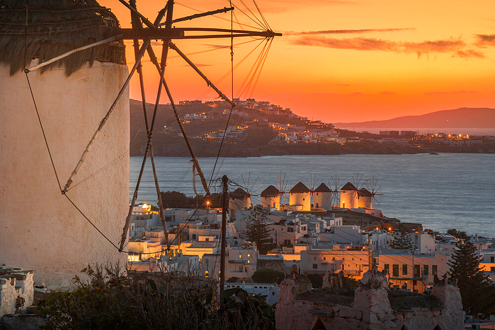
[[[266,254],[274,244],[270,238],[271,229],[266,223],[266,214],[262,208],[254,208],[251,214],[247,217],[246,230],[244,235],[248,241],[256,243],[256,248],[259,254]]]

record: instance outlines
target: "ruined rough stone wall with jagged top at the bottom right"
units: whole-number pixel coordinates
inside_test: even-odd
[[[459,289],[446,280],[435,283],[431,295],[389,291],[375,265],[359,281],[353,298],[339,290],[311,289],[303,276],[285,279],[277,301],[277,329],[464,329]]]

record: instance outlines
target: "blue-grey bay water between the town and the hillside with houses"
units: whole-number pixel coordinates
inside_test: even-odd
[[[194,194],[192,163],[189,158],[156,157],[160,189]],[[141,157],[131,157],[130,197],[141,166]],[[200,158],[199,165],[207,179],[215,158]],[[218,171],[219,170],[219,171]],[[218,171],[218,172],[217,172]],[[340,186],[361,174],[379,179],[383,196],[380,205],[385,216],[404,222],[419,222],[424,228],[446,231],[449,228],[468,234],[495,236],[495,154],[440,155],[332,155],[332,156],[265,156],[220,158],[214,179],[226,174],[244,185],[257,181],[257,194],[266,186],[278,185],[280,172],[289,180],[288,189],[301,181],[307,185],[310,175],[317,185],[332,176],[340,178]],[[204,193],[199,179],[198,193]],[[156,205],[156,190],[149,159],[139,189],[139,202]],[[259,197],[253,197],[259,198]],[[255,202],[255,200],[253,200]]]

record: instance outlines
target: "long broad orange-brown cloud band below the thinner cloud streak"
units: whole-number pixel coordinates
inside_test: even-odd
[[[353,49],[353,50],[382,50],[393,51],[396,53],[416,53],[418,58],[422,54],[429,53],[452,53],[457,57],[476,57],[484,58],[483,53],[466,49],[468,45],[462,40],[435,40],[423,42],[396,42],[375,38],[346,38],[336,39],[329,37],[300,37],[292,41],[295,45],[300,46],[317,46],[336,49]]]

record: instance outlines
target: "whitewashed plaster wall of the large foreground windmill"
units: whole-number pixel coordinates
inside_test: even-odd
[[[106,62],[69,77],[65,70],[29,73],[62,187],[127,75],[127,66]],[[127,254],[60,193],[24,72],[10,76],[0,64],[0,86],[0,264],[33,269],[35,283],[50,288],[70,286],[88,264],[125,266]],[[117,244],[129,208],[128,91],[67,195]]]

